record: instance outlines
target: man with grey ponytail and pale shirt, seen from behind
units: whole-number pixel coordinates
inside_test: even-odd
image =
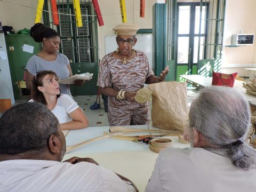
[[[192,148],[161,151],[146,191],[254,191],[256,150],[246,141],[250,117],[249,103],[235,89],[203,89],[189,111]]]

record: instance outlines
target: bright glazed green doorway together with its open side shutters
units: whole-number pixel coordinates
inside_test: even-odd
[[[165,63],[167,60],[166,65],[175,71],[171,76],[176,81],[181,80],[180,75],[211,76],[210,69],[219,71],[221,67],[226,0],[178,2],[166,0],[166,10],[163,5],[153,7],[153,11],[158,8],[156,13],[164,13],[163,17],[153,14],[154,22],[166,26],[159,28],[155,38],[166,39],[162,54],[158,56],[155,50],[155,61],[159,61],[155,65],[161,70],[161,61]],[[162,22],[163,18],[165,22]],[[158,46],[163,45],[160,43]]]

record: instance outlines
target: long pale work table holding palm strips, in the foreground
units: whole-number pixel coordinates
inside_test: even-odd
[[[156,129],[151,125],[133,125],[125,127],[145,130]],[[104,131],[108,130],[109,126],[71,130],[66,136],[66,144],[67,146],[75,145],[91,138],[100,137],[103,135]],[[150,133],[133,133],[132,135],[147,134]],[[151,134],[157,133],[151,132]],[[189,144],[180,143],[178,137],[163,138],[170,138],[172,140],[172,147],[190,147]],[[89,143],[68,152],[64,156],[63,161],[73,156],[91,157],[107,169],[129,178],[138,187],[139,191],[144,191],[151,173],[154,170],[158,154],[151,151],[148,145],[143,142],[107,138]]]

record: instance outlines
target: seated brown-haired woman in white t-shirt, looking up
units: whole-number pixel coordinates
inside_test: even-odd
[[[29,102],[41,102],[58,118],[61,130],[82,129],[88,119],[77,103],[67,94],[60,94],[58,77],[53,71],[37,73]]]

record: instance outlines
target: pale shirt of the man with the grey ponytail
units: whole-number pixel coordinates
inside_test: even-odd
[[[203,148],[167,148],[159,153],[146,192],[255,191],[256,167],[242,170],[230,158]]]

